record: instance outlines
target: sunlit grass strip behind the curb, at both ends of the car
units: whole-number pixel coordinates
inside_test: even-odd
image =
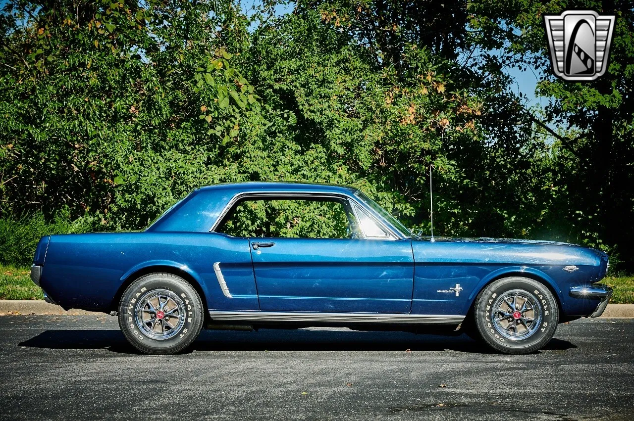
[[[614,288],[611,303],[634,304],[634,276],[607,277],[601,283]],[[30,268],[0,265],[0,299],[44,299],[44,294],[30,279]]]

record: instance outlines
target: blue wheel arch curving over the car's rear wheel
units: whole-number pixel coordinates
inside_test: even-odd
[[[123,296],[123,293],[126,291],[127,287],[129,287],[135,280],[139,279],[143,275],[148,275],[149,273],[172,273],[172,275],[179,276],[183,278],[188,284],[193,287],[193,289],[198,292],[200,296],[200,300],[202,301],[202,305],[204,306],[205,319],[209,315],[208,311],[209,306],[207,306],[207,294],[203,287],[203,282],[198,278],[198,276],[190,270],[190,268],[181,265],[172,261],[151,261],[146,263],[141,263],[133,268],[131,268],[128,272],[126,272],[121,277],[121,286],[117,290],[117,293],[112,298],[112,302],[110,303],[110,311],[117,311],[119,308],[119,301]]]

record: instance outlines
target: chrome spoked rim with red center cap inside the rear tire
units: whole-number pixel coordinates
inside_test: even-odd
[[[167,289],[146,292],[136,302],[136,325],[147,337],[165,340],[174,337],[185,323],[183,300]]]

